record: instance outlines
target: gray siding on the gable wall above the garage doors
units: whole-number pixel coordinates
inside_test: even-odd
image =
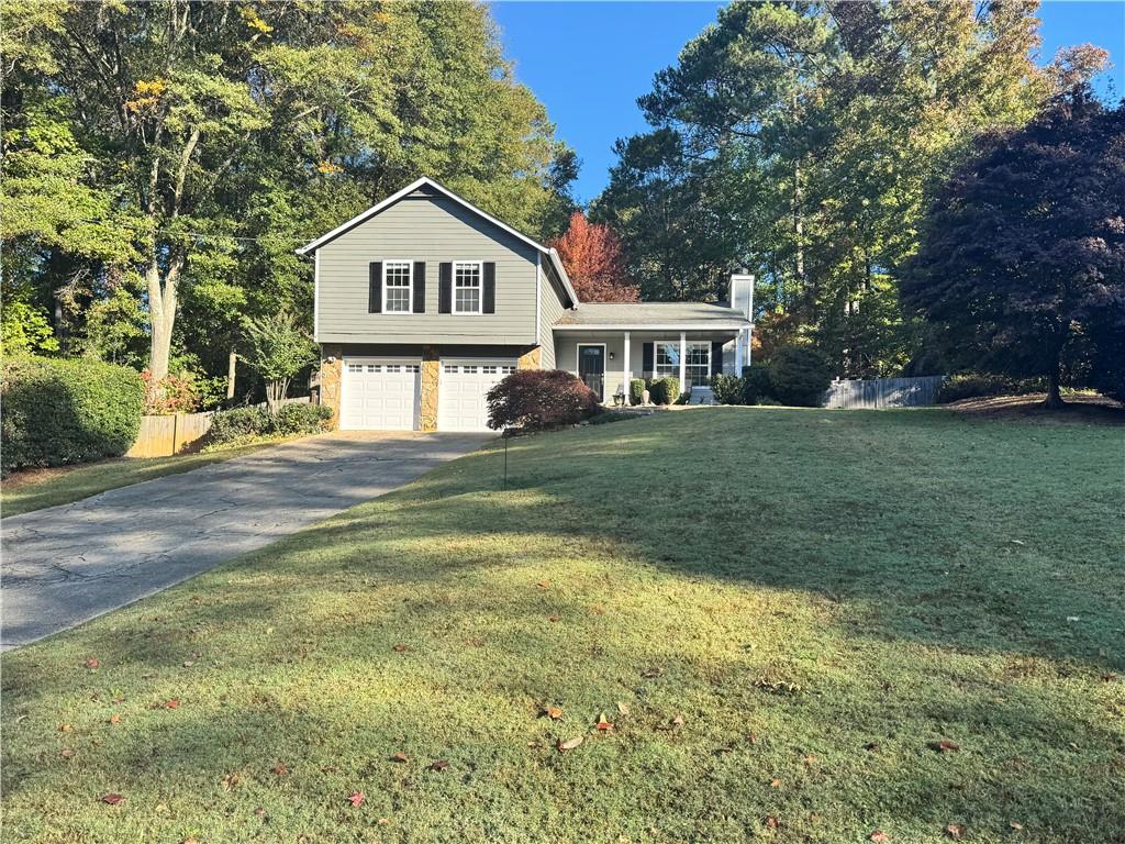
[[[316,339],[322,343],[539,342],[537,250],[444,197],[413,195],[320,249]],[[425,261],[424,314],[368,313],[371,261]],[[496,263],[495,314],[439,314],[439,264]]]

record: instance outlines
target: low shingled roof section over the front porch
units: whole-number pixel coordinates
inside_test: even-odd
[[[582,302],[564,312],[552,327],[555,331],[738,331],[749,326],[750,321],[737,308],[706,302]]]

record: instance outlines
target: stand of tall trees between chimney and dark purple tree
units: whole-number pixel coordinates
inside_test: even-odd
[[[626,235],[645,297],[718,299],[746,267],[778,341],[842,375],[899,371],[919,341],[897,268],[934,190],[1048,90],[1034,10],[731,3],[640,99],[655,128],[619,142],[595,218]]]

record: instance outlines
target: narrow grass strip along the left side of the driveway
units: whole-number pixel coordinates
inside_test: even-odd
[[[72,501],[81,501],[106,490],[152,481],[161,475],[190,472],[209,463],[242,457],[264,446],[277,443],[278,440],[273,440],[206,454],[150,458],[120,457],[86,466],[17,472],[0,484],[0,511],[8,517],[53,508],[56,504],[70,504]]]

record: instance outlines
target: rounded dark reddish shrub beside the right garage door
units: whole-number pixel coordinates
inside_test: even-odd
[[[594,392],[560,369],[520,369],[488,390],[488,427],[494,430],[547,431],[601,410]]]

